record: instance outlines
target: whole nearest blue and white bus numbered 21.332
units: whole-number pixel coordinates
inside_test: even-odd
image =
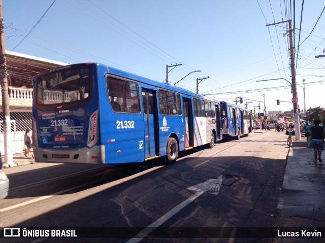
[[[99,63],[34,78],[37,162],[130,163],[222,139],[220,102]]]

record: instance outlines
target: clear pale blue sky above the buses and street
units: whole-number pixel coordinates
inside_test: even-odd
[[[323,0],[3,0],[5,48],[158,82],[182,63],[168,67],[172,85],[196,92],[202,79],[200,94],[284,112],[293,109],[288,24],[266,25],[292,20],[298,105],[325,108],[325,56],[315,58],[325,55],[324,8]]]

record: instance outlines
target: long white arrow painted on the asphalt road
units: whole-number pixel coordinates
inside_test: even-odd
[[[167,214],[165,214],[163,217],[159,218],[147,228],[144,230],[140,231],[137,235],[135,235],[132,239],[129,239],[126,241],[126,243],[137,243],[140,240],[142,240],[144,237],[146,237],[148,234],[150,234],[155,228],[159,227],[161,224],[165,223],[167,220],[172,218],[175,214],[177,214],[180,210],[182,210],[185,206],[187,206],[189,203],[197,199],[199,196],[201,196],[203,193],[211,193],[214,195],[218,195],[219,189],[221,186],[222,182],[222,176],[219,176],[218,178],[210,179],[206,182],[203,182],[201,184],[198,184],[196,186],[191,186],[186,189],[192,190],[192,191],[197,191],[196,194],[190,196],[187,198],[185,201],[181,202],[178,204],[174,209],[169,211]]]

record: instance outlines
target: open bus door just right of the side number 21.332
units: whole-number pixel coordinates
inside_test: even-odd
[[[159,155],[156,91],[142,88],[145,158]]]

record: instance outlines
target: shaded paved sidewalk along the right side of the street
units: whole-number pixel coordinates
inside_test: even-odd
[[[295,138],[293,140],[285,168],[275,226],[324,227],[325,152],[321,154],[323,162],[317,161],[315,164],[314,150],[307,147],[306,138],[303,136],[300,141],[295,141]]]

